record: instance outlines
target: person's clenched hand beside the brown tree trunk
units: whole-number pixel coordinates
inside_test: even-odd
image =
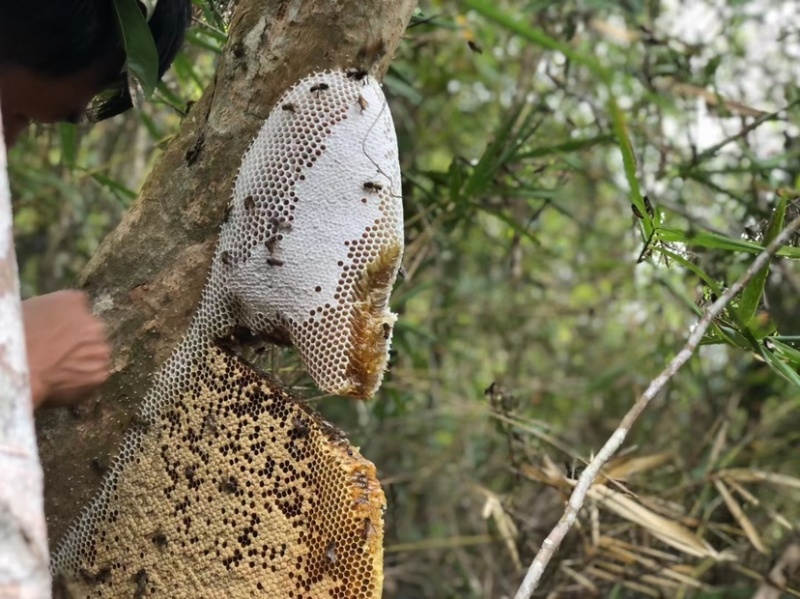
[[[68,405],[108,378],[111,349],[84,293],[25,300],[22,317],[34,407]]]

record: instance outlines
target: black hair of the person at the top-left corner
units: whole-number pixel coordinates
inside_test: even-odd
[[[148,25],[158,50],[159,79],[178,54],[190,19],[191,0],[158,0]],[[124,59],[113,0],[2,2],[0,65],[14,64],[41,75],[61,77],[115,54],[120,61]],[[102,101],[92,103],[88,116],[100,121],[130,107],[123,73]]]

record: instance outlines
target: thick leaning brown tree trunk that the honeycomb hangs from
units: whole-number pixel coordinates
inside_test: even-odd
[[[113,374],[99,398],[38,422],[51,544],[99,486],[200,298],[242,155],[295,81],[329,68],[386,71],[416,0],[240,0],[214,82],[136,203],[78,280],[108,325]]]

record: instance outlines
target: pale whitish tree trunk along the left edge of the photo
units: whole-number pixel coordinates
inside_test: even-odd
[[[0,599],[50,596],[11,194],[0,119]]]

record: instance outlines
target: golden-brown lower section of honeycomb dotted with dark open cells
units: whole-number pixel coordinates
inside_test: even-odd
[[[184,351],[176,401],[139,424],[54,556],[66,596],[380,597],[374,466],[227,349]]]

